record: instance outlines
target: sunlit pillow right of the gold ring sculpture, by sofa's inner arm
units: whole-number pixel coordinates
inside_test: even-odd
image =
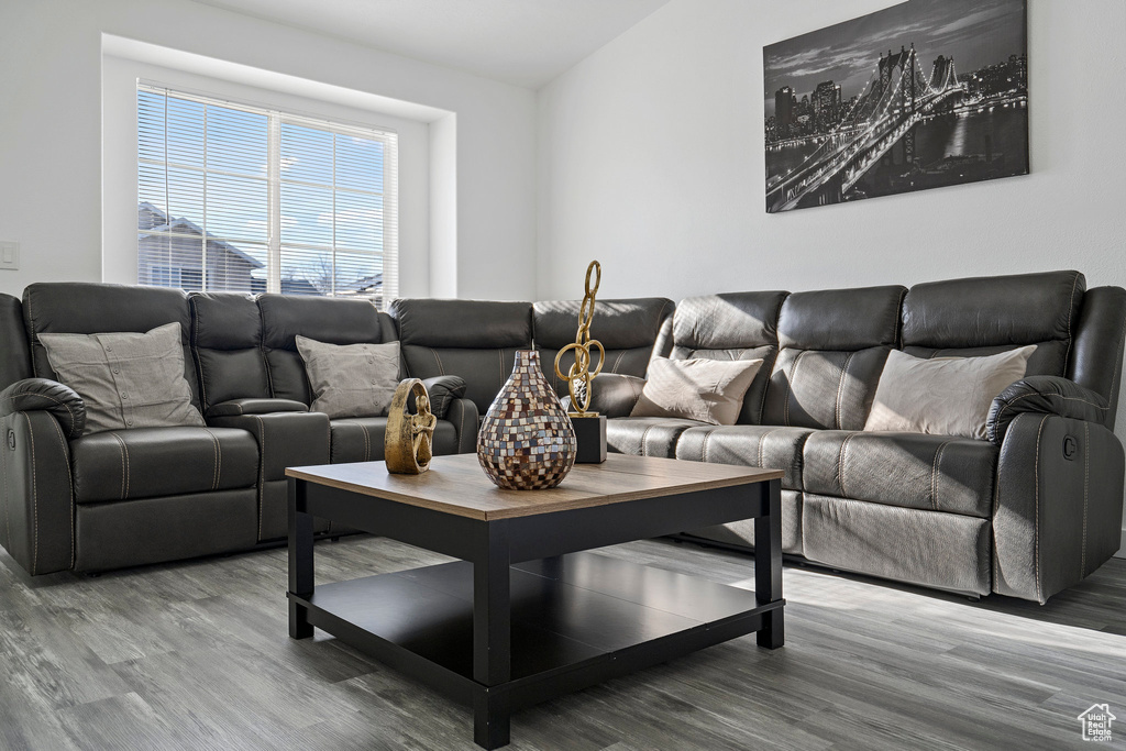
[[[632,418],[686,418],[735,424],[762,360],[654,358]]]

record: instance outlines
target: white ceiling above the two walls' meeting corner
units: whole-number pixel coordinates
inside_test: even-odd
[[[537,89],[669,0],[196,0]]]

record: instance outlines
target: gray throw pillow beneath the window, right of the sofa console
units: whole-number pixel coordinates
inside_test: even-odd
[[[330,418],[385,417],[399,386],[399,342],[329,345],[297,337],[314,412]]]

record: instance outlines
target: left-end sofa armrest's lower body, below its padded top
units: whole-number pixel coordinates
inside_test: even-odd
[[[74,493],[63,421],[52,409],[10,411],[11,401],[0,401],[6,404],[0,415],[0,545],[33,576],[68,571],[74,566]]]

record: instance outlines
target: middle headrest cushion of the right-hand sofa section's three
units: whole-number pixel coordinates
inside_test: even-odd
[[[778,314],[778,343],[844,351],[895,346],[905,294],[900,286],[796,292]]]

